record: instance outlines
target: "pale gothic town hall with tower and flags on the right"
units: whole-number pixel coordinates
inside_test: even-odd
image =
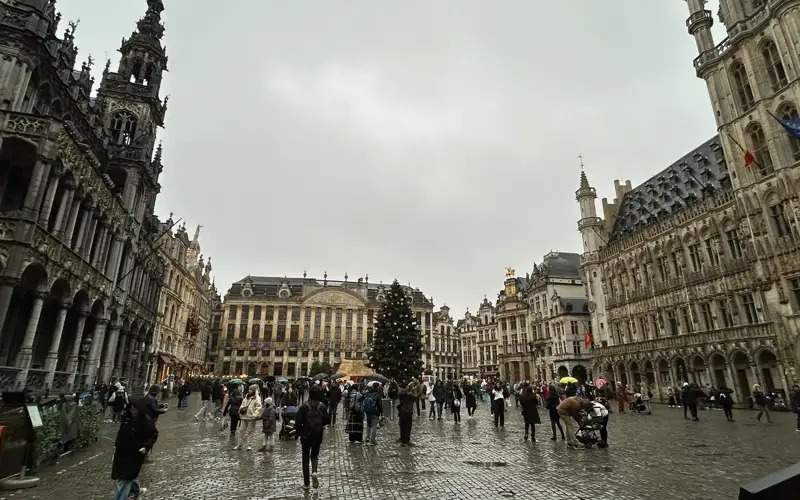
[[[576,198],[595,334],[594,372],[647,383],[786,391],[800,357],[800,141],[778,118],[800,105],[800,1],[688,0],[694,61],[718,135],[595,209]]]

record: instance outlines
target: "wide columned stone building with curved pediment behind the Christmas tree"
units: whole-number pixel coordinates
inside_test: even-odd
[[[405,287],[412,311],[431,345],[433,303]],[[225,294],[214,373],[299,377],[314,361],[338,365],[369,351],[373,324],[388,286],[357,281],[248,276]],[[430,352],[423,364],[430,363]]]

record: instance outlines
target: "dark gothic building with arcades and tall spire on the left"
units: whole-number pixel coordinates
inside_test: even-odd
[[[96,96],[54,4],[0,2],[0,390],[143,383],[163,272],[162,2],[147,2]]]

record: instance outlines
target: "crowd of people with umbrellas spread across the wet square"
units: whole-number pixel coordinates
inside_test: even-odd
[[[107,421],[120,424],[112,464],[116,498],[138,498],[144,491],[138,478],[158,439],[158,417],[167,411],[166,401],[171,397],[177,399],[178,411],[184,411],[193,392],[200,394],[200,408],[194,420],[213,421],[220,431],[228,430],[233,450],[251,451],[258,441],[255,445],[260,443],[259,452],[270,452],[274,450],[276,436],[299,439],[306,489],[319,487],[319,453],[327,426],[341,425],[353,445],[375,446],[378,429],[397,421],[399,445],[414,446],[411,435],[415,415],[417,419],[450,419],[454,425],[460,425],[462,407],[466,407],[466,418],[473,419],[478,401],[488,398],[488,417],[498,431],[504,429],[505,413],[513,407],[522,416],[523,439],[535,442],[536,426],[542,423],[539,416],[542,408],[549,419],[551,440],[557,441],[560,437],[572,449],[594,444],[605,448],[609,444],[609,398],[616,399],[619,413],[652,413],[653,395],[647,388],[642,386],[637,390],[622,383],[614,384],[612,389],[611,384],[595,386],[571,381],[509,384],[426,378],[398,383],[376,378],[379,380],[360,382],[178,380],[174,384],[153,385],[143,397],[128,394],[120,382],[98,388]],[[696,384],[684,383],[680,388],[669,388],[667,394],[668,406],[683,407],[684,418],[699,420],[698,407],[705,405],[721,408],[726,419],[733,421],[733,404],[727,390],[707,391]],[[753,401],[759,410],[756,419],[765,416],[769,422],[769,397],[758,385],[753,387]],[[793,387],[790,405],[797,412],[797,430],[800,431],[798,386]],[[338,417],[340,408],[341,418]],[[255,438],[257,434],[260,439]]]

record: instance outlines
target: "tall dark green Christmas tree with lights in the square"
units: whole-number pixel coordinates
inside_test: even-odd
[[[369,352],[373,370],[401,383],[422,373],[422,339],[411,302],[395,280],[378,311]]]

